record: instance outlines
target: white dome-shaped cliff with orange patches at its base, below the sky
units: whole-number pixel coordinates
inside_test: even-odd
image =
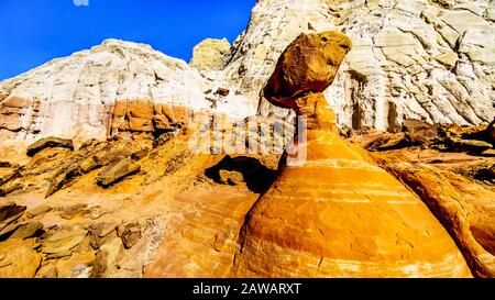
[[[132,110],[135,115],[129,115],[130,124],[123,125],[135,131],[153,126],[153,112],[147,115],[147,108],[153,111],[168,107],[180,114],[185,109],[208,111],[215,104],[217,111],[232,115],[254,113],[254,109],[246,112],[242,104],[234,110],[215,103],[224,97],[213,95],[207,99],[208,88],[199,73],[183,60],[167,57],[148,45],[108,40],[89,51],[54,59],[2,81],[0,136],[6,144],[9,141],[31,144],[47,136],[79,143],[103,140],[113,121],[122,116],[119,115],[122,108],[136,102],[140,104],[134,107],[139,109]]]

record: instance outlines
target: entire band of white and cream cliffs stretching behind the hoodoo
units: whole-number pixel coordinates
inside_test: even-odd
[[[0,138],[105,137],[120,101],[284,116],[261,90],[295,37],[327,30],[354,44],[326,92],[340,126],[480,124],[495,115],[494,22],[493,0],[260,0],[232,46],[207,40],[190,66],[109,40],[0,82]]]

